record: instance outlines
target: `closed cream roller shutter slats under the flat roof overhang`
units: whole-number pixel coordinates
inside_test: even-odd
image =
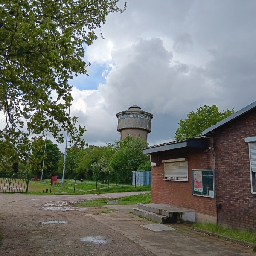
[[[188,162],[187,161],[175,161],[164,163],[164,179],[175,181],[187,181],[188,180]]]

